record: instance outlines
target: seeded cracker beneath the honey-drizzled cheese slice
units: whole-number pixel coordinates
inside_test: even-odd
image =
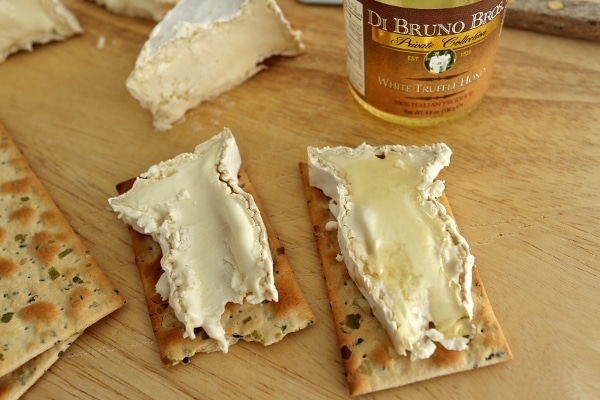
[[[337,260],[340,250],[336,230],[326,229],[327,222],[334,220],[329,211],[329,198],[310,186],[308,164],[300,163],[300,171],[350,394],[356,396],[403,386],[512,358],[476,266],[472,295],[477,333],[469,348],[450,351],[437,345],[430,358],[414,362],[410,357],[397,355],[385,330],[371,313],[367,300],[348,275],[346,265]],[[445,197],[442,196],[440,201],[451,215]]]

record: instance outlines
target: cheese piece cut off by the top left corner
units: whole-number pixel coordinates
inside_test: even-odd
[[[34,44],[65,40],[83,30],[59,0],[0,0],[0,62]]]

